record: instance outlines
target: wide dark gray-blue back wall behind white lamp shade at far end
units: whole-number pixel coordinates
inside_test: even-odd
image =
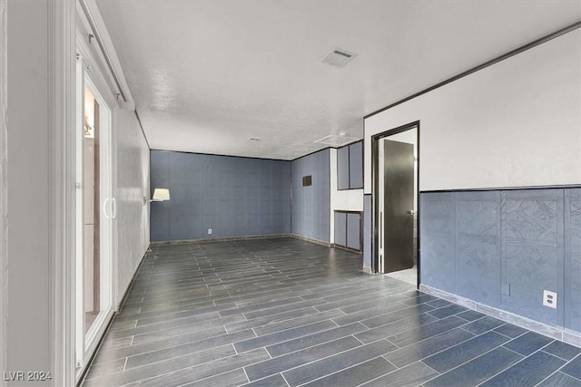
[[[153,242],[291,232],[291,161],[152,150],[155,188]]]

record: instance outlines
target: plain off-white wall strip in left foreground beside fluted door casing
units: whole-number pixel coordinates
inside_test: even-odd
[[[0,372],[51,371],[47,15],[47,1],[8,2],[9,282],[7,337],[0,344],[7,365]]]

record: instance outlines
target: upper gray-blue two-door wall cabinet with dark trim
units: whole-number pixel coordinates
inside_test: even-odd
[[[363,188],[363,141],[337,150],[337,189]]]

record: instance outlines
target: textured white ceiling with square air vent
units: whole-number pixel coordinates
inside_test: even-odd
[[[97,4],[153,149],[283,160],[581,19],[577,0]],[[358,56],[320,63],[335,46]]]

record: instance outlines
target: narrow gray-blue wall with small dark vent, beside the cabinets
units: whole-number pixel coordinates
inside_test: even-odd
[[[291,162],[292,233],[330,241],[330,150],[320,150]],[[302,178],[312,176],[303,187]]]

